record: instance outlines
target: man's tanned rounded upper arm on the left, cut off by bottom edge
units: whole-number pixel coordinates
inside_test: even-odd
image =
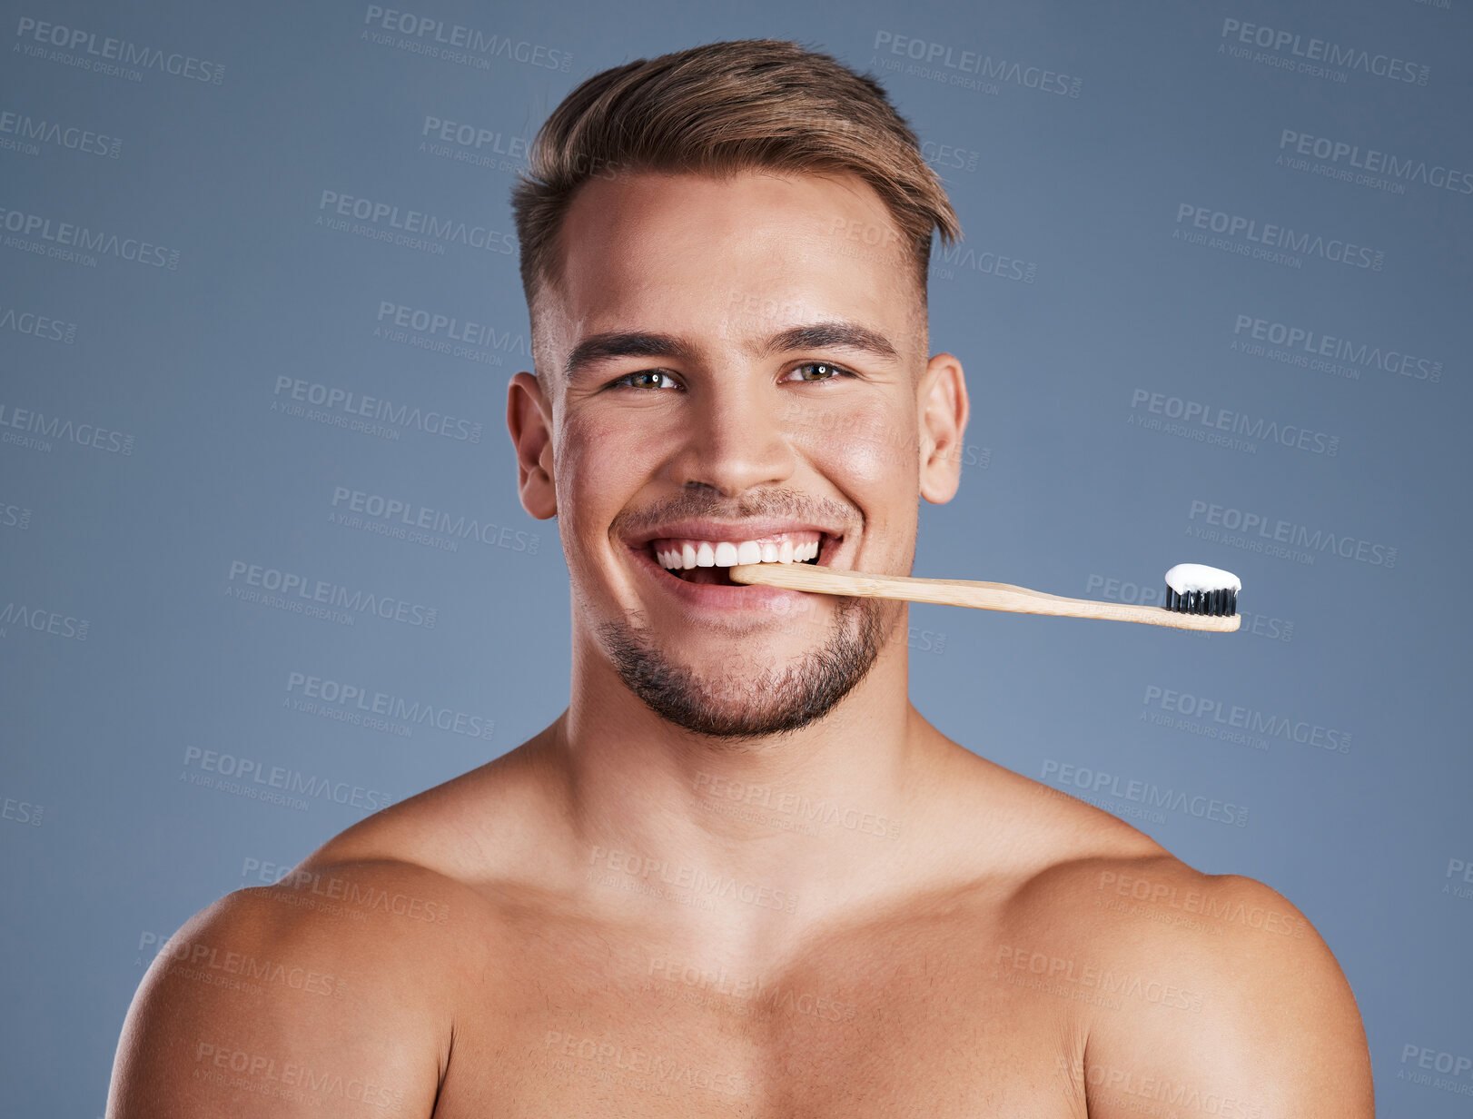
[[[108,1119],[321,1116],[365,1103],[432,1113],[448,1013],[426,961],[445,963],[446,933],[407,906],[373,904],[426,883],[326,875],[355,883],[356,904],[346,886],[328,900],[321,882],[239,891],[169,939],[128,1010]]]

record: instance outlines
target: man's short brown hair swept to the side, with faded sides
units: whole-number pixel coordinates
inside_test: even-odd
[[[900,230],[927,305],[931,231],[960,222],[885,90],[829,54],[772,38],[706,43],[595,74],[538,130],[511,191],[521,287],[563,280],[558,233],[579,188],[620,172],[857,175]]]

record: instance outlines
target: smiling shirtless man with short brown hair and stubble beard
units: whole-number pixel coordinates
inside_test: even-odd
[[[907,574],[918,495],[959,484],[925,314],[956,218],[879,87],[787,43],[641,60],[533,171],[507,418],[570,704],[194,916],[109,1118],[1370,1119],[1287,901],[978,757],[984,713],[935,730],[903,604],[722,571],[754,542]]]

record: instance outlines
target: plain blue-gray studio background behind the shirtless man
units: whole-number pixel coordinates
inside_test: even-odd
[[[513,174],[588,75],[779,37],[881,78],[966,231],[931,330],[974,420],[915,573],[1246,587],[1231,636],[913,608],[916,704],[1286,894],[1385,1113],[1467,1115],[1418,1066],[1473,1054],[1470,0],[393,10],[0,4],[6,1110],[99,1113],[189,914],[564,707]],[[409,211],[465,233],[396,243]]]

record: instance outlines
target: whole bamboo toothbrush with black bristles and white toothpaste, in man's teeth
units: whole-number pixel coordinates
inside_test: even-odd
[[[1177,564],[1167,571],[1167,604],[1134,607],[1061,598],[1009,583],[978,583],[966,579],[912,579],[840,571],[818,564],[736,564],[729,568],[734,583],[764,583],[787,590],[859,598],[899,598],[906,602],[935,602],[943,607],[1006,610],[1013,614],[1056,614],[1066,618],[1140,621],[1147,626],[1231,633],[1242,624],[1237,592],[1242,582],[1231,571],[1202,564]]]

